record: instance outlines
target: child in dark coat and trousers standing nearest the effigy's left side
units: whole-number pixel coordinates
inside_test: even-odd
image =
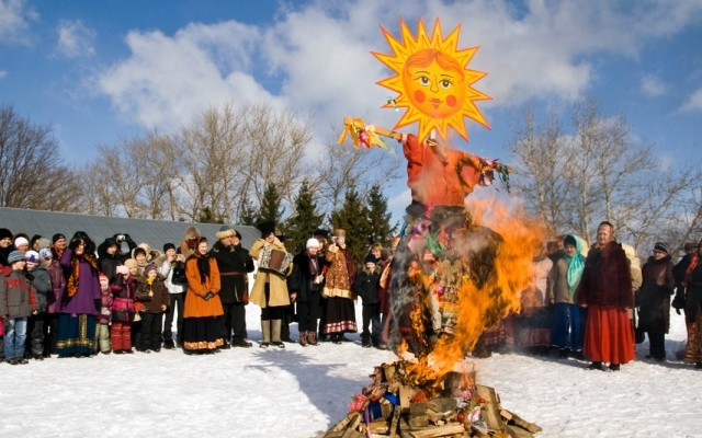
[[[381,312],[377,299],[381,273],[376,267],[376,258],[373,254],[369,254],[364,262],[364,268],[355,277],[354,288],[355,293],[361,297],[363,302],[361,344],[369,348],[371,347],[371,336],[375,346],[378,346],[381,341]]]

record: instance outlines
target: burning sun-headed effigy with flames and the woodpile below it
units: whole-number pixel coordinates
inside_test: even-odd
[[[393,130],[344,119],[340,143],[348,137],[356,148],[389,149],[382,137],[401,143],[412,201],[389,279],[389,341],[399,359],[376,367],[349,415],[325,437],[540,430],[477,384],[471,361],[494,342],[500,322],[519,312],[544,235],[536,222],[497,201],[469,200],[476,186],[496,178],[509,188],[508,165],[446,146],[449,128],[468,140],[465,118],[489,128],[476,102],[491,97],[473,88],[486,73],[467,69],[478,47],[458,48],[460,27],[444,38],[439,19],[431,33],[419,19],[415,36],[400,20],[399,39],[381,27],[393,53],[373,55],[394,73],[378,84],[398,93],[384,107],[406,111]],[[417,135],[394,130],[410,124],[419,125]]]

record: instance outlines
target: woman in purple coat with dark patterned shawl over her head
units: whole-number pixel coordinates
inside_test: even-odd
[[[95,319],[101,306],[100,268],[95,243],[83,232],[77,232],[60,257],[66,273],[66,288],[56,297],[58,357],[92,355]]]

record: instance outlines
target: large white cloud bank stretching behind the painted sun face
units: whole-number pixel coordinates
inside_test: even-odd
[[[597,55],[636,57],[702,11],[698,2],[642,3],[529,0],[518,10],[506,0],[408,0],[398,10],[375,0],[318,0],[281,7],[270,26],[226,21],[172,36],[131,32],[132,55],[104,71],[99,87],[147,126],[189,122],[225,101],[261,100],[315,114],[327,136],[346,115],[392,127],[398,113],[380,108],[392,93],[375,84],[390,72],[370,51],[389,53],[378,23],[399,37],[403,13],[412,30],[423,16],[429,32],[441,16],[444,36],[461,23],[460,47],[480,46],[468,68],[488,72],[476,84],[494,97],[478,104],[484,112],[533,99],[571,101],[595,87]]]

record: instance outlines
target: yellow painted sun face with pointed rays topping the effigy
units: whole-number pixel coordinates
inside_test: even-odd
[[[399,93],[397,97],[388,99],[383,107],[407,108],[395,129],[419,122],[420,141],[426,140],[432,131],[445,141],[449,127],[467,141],[468,131],[464,117],[489,129],[490,126],[475,102],[492,97],[472,88],[487,73],[466,68],[478,47],[458,49],[461,25],[444,39],[439,19],[431,37],[421,19],[417,38],[403,19],[399,24],[401,41],[395,39],[381,26],[393,54],[372,51],[373,56],[395,72],[377,84]]]

